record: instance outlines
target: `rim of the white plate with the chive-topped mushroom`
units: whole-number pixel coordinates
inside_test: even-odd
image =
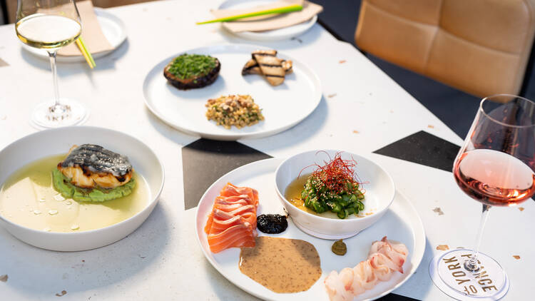
[[[314,95],[312,96],[312,101],[314,101],[312,108],[310,111],[308,111],[306,114],[304,114],[302,117],[295,119],[295,121],[292,121],[291,123],[287,124],[286,126],[282,126],[279,128],[269,129],[269,130],[263,130],[263,131],[256,131],[256,132],[250,132],[250,133],[228,133],[228,134],[221,134],[221,133],[209,133],[204,131],[194,131],[190,128],[183,128],[182,126],[178,126],[175,123],[173,123],[172,120],[169,118],[165,118],[162,113],[160,113],[156,108],[153,108],[151,106],[151,103],[153,102],[151,100],[151,97],[148,96],[148,83],[151,80],[150,76],[152,73],[156,72],[156,68],[158,65],[165,61],[170,61],[172,58],[175,58],[176,56],[180,55],[181,53],[187,53],[187,52],[194,52],[194,51],[200,51],[201,49],[213,49],[213,48],[222,48],[222,49],[272,49],[270,47],[266,46],[259,46],[254,44],[213,44],[208,46],[198,46],[190,49],[183,49],[182,51],[176,52],[172,56],[169,56],[168,58],[165,58],[161,61],[158,61],[154,66],[152,66],[149,71],[146,73],[145,78],[143,79],[143,101],[145,102],[145,105],[153,113],[158,119],[166,123],[168,126],[171,126],[178,131],[181,131],[183,133],[188,133],[190,135],[194,136],[200,136],[201,138],[208,138],[218,141],[237,141],[239,139],[245,139],[245,138],[263,138],[267,136],[272,136],[277,133],[281,133],[283,131],[286,131],[289,128],[292,128],[293,126],[296,126],[301,121],[305,120],[310,114],[312,114],[316,108],[320,105],[322,98],[323,98],[323,91],[322,91],[322,84],[320,81],[320,77],[317,76],[317,73],[315,73],[312,68],[305,65],[305,63],[302,63],[301,61],[295,60],[293,56],[288,56],[286,53],[282,52],[284,56],[287,58],[290,58],[292,61],[299,62],[300,65],[302,65],[306,70],[305,73],[308,73],[310,76],[309,78],[312,80],[312,84],[314,86]],[[209,52],[209,51],[206,51]]]

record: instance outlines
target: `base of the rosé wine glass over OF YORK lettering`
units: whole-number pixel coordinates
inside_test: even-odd
[[[499,300],[509,291],[509,278],[496,260],[479,253],[479,271],[464,269],[472,250],[455,249],[435,256],[429,263],[434,285],[457,300]]]

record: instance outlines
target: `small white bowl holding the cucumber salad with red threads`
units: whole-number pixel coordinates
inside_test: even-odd
[[[314,163],[324,165],[324,161],[335,158],[338,152],[340,151],[322,150],[300,153],[284,160],[275,171],[275,188],[280,202],[290,213],[290,217],[298,228],[317,238],[337,240],[357,235],[361,230],[377,222],[387,212],[392,200],[394,200],[394,181],[390,175],[367,158],[348,152],[341,152],[342,159],[354,159],[357,162],[355,171],[364,183],[363,187],[366,190],[365,210],[360,214],[363,217],[350,215],[342,220],[332,213],[322,213],[322,216],[315,215],[300,210],[286,200],[285,190],[287,186],[300,175],[303,168]],[[302,171],[301,175],[312,173],[314,169],[313,167],[307,168]]]

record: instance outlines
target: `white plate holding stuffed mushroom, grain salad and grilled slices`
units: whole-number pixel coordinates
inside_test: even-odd
[[[215,140],[260,138],[295,126],[315,110],[322,98],[320,79],[305,64],[278,53],[277,57],[293,61],[293,73],[286,76],[280,86],[270,86],[259,75],[242,76],[245,62],[251,52],[265,49],[253,45],[206,46],[180,51],[158,63],[143,83],[147,107],[161,120],[185,133]],[[163,77],[163,68],[183,53],[207,54],[221,62],[218,78],[209,86],[187,91],[178,90]],[[217,126],[205,117],[205,103],[210,98],[229,94],[249,94],[263,110],[265,121],[254,126],[230,129]]]

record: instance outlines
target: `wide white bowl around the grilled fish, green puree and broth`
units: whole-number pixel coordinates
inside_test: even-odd
[[[163,188],[163,166],[143,142],[106,128],[71,126],[40,131],[19,139],[0,151],[0,183],[24,165],[49,155],[66,153],[73,144],[93,143],[128,156],[136,172],[143,175],[150,190],[143,210],[121,223],[75,233],[54,233],[26,228],[0,215],[0,224],[19,240],[38,248],[80,251],[115,243],[136,230],[151,214]]]

